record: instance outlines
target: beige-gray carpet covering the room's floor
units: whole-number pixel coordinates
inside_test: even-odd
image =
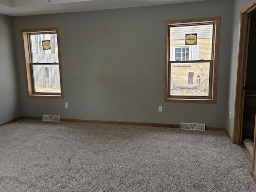
[[[0,192],[255,192],[225,132],[19,120],[0,126]]]

